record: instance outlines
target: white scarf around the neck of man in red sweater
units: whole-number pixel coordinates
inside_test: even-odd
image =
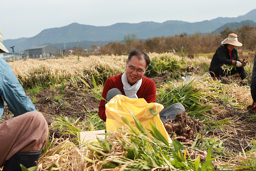
[[[122,75],[122,83],[124,85],[123,88],[125,95],[129,98],[138,99],[136,93],[140,89],[140,85],[142,84],[142,78],[138,80],[134,85],[130,85],[126,77],[126,73],[124,72],[124,74]]]

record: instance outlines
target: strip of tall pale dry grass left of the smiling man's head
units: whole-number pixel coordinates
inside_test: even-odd
[[[10,62],[14,74],[24,85],[48,82],[61,82],[75,77],[86,77],[90,74],[101,75],[104,70],[110,70],[113,75],[124,71],[124,56],[68,56],[58,59],[16,61]]]

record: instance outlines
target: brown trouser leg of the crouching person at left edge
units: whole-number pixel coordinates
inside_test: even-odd
[[[48,125],[42,113],[30,111],[0,124],[0,166],[18,151],[40,151]]]

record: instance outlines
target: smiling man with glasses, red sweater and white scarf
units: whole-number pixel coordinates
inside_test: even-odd
[[[153,80],[144,77],[145,71],[150,64],[148,54],[132,49],[126,61],[124,74],[112,76],[106,80],[100,100],[99,117],[106,121],[105,104],[115,95],[122,94],[130,98],[144,98],[148,103],[156,102],[156,84]],[[175,103],[163,109],[159,115],[164,122],[174,119],[177,113],[185,110],[181,103]]]

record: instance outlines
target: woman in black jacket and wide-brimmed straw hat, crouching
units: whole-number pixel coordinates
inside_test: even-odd
[[[220,76],[233,75],[239,73],[242,80],[246,78],[246,73],[241,61],[238,58],[236,46],[242,46],[242,43],[238,42],[237,35],[232,33],[228,35],[228,38],[221,42],[221,46],[216,50],[212,62],[210,64],[210,75],[213,78],[220,79]],[[236,66],[232,70],[223,70],[221,67],[224,64]]]

